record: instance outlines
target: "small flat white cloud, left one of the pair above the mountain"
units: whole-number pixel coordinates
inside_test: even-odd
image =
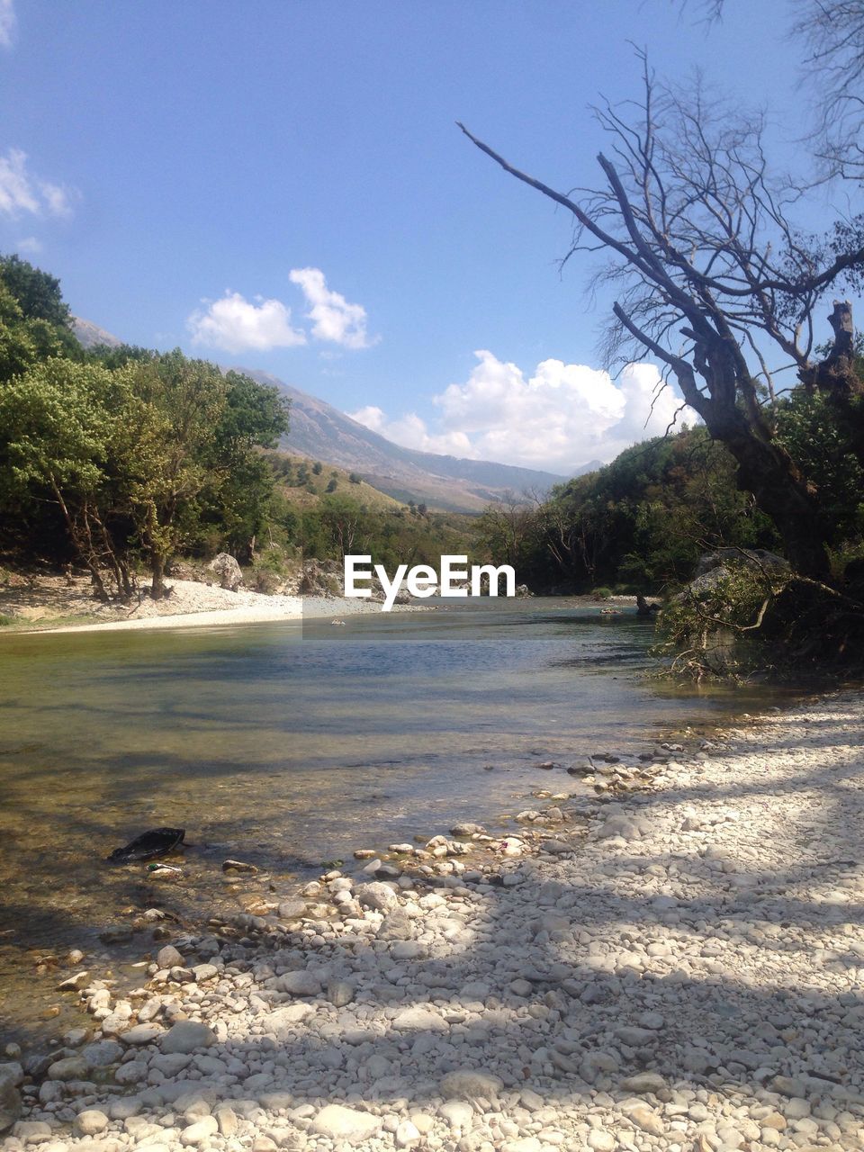
[[[192,312],[187,321],[192,343],[243,353],[296,348],[306,342],[305,333],[291,326],[290,309],[281,301],[260,296],[256,301],[248,301],[237,291],[226,291],[221,300],[203,301],[209,305],[206,310]]]

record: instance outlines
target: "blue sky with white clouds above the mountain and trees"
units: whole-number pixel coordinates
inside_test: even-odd
[[[702,68],[805,114],[788,0],[0,0],[0,251],[129,343],[264,369],[409,447],[567,473],[666,431],[559,259],[590,105]],[[679,416],[679,419],[682,417]]]

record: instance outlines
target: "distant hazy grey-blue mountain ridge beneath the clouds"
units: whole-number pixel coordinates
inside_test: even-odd
[[[291,426],[282,441],[287,452],[355,471],[397,500],[423,501],[450,511],[479,511],[508,493],[545,495],[553,484],[566,479],[532,468],[402,448],[268,372],[236,371],[259,384],[274,385],[290,399]]]

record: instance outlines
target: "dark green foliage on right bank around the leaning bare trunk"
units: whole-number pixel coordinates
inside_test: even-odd
[[[665,596],[660,651],[675,668],[700,675],[859,667],[864,397],[802,384],[776,401],[772,419],[776,442],[818,501],[831,562],[825,581],[783,559],[776,525],[703,426],[636,445],[538,507],[493,506],[485,541],[538,591]],[[691,583],[704,556],[706,570]]]

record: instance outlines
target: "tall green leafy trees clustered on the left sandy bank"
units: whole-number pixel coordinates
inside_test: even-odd
[[[0,533],[77,560],[101,598],[144,562],[159,596],[177,552],[249,552],[272,514],[260,449],[288,427],[275,388],[182,353],[96,349],[58,281],[0,262]]]

